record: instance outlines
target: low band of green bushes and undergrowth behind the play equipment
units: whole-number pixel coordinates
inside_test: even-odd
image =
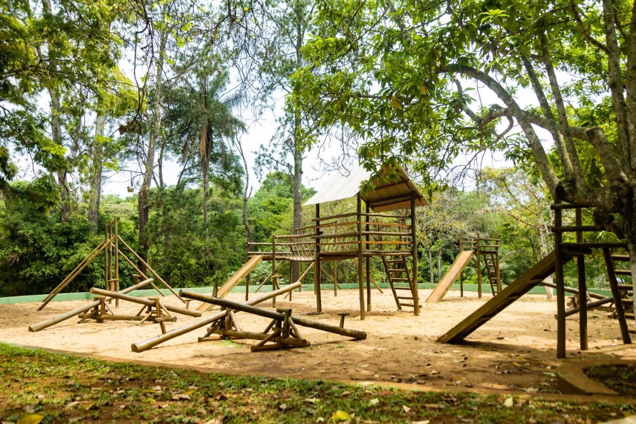
[[[237,174],[240,178],[240,173]],[[551,240],[550,202],[537,180],[512,169],[487,169],[478,188],[460,191],[448,188],[431,195],[431,206],[418,208],[417,228],[420,253],[420,283],[437,283],[455,255],[462,237],[501,237],[501,276],[504,284],[513,281],[539,258]],[[48,185],[47,185],[48,183]],[[0,290],[2,295],[46,293],[52,290],[104,235],[104,225],[120,217],[120,234],[139,248],[137,197],[106,196],[100,202],[97,228],[88,220],[88,206],[74,202],[69,219],[60,221],[57,185],[47,178],[11,183],[11,195],[0,208]],[[203,192],[193,188],[153,188],[153,204],[148,220],[148,260],[159,274],[175,287],[221,284],[246,260],[247,231],[242,222],[243,187],[212,184],[209,188],[209,221],[204,223]],[[314,194],[303,187],[303,200]],[[265,176],[246,204],[253,240],[266,242],[272,234],[289,234],[293,229],[293,178],[275,171]],[[330,212],[349,211],[351,202],[329,204]],[[312,209],[312,208],[307,208]],[[305,210],[306,222],[312,211]],[[542,237],[544,237],[542,239]],[[121,263],[121,285],[132,284],[134,271]],[[332,264],[326,264],[331,269]],[[66,291],[88,291],[103,286],[103,260],[95,260]],[[604,267],[590,258],[588,276],[592,286],[605,285]],[[270,271],[260,264],[252,273],[255,283]],[[357,282],[353,261],[338,264],[341,283]],[[282,265],[282,281],[289,280],[289,264]],[[465,271],[465,282],[476,283],[475,262]],[[373,262],[377,281],[386,278],[380,261]],[[566,269],[574,285],[574,269]],[[311,282],[308,279],[308,282]],[[323,283],[330,283],[324,276]]]

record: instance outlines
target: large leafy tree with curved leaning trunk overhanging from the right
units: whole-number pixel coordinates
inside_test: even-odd
[[[636,5],[321,5],[337,34],[305,46],[296,104],[324,108],[322,125],[346,122],[368,167],[415,156],[429,182],[461,154],[504,152],[554,199],[593,206],[626,239],[636,284]],[[475,87],[495,103],[475,104]]]

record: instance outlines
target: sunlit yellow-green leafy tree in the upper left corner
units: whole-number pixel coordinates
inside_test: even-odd
[[[126,4],[52,0],[3,8],[3,144],[57,175],[62,222],[72,204],[67,175],[83,165],[87,105],[111,89],[120,38],[108,25],[127,10]],[[48,111],[38,108],[38,96],[48,97]],[[3,173],[10,176],[10,169]]]

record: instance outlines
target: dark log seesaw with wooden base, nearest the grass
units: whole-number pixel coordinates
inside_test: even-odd
[[[201,293],[191,292],[190,290],[181,290],[179,295],[186,299],[199,300],[209,304],[221,306],[221,313],[216,320],[211,322],[211,327],[207,330],[204,337],[200,337],[198,341],[212,340],[212,334],[218,334],[221,338],[232,339],[252,339],[259,342],[251,346],[251,351],[277,350],[287,348],[305,348],[309,346],[307,339],[303,339],[296,325],[309,327],[311,329],[322,330],[330,333],[340,334],[341,336],[352,337],[354,339],[366,339],[366,332],[359,330],[345,329],[344,320],[340,320],[340,327],[328,325],[322,322],[307,320],[299,316],[291,316],[291,309],[277,309],[271,311],[256,307],[245,303],[233,302],[232,300],[221,299]],[[225,310],[223,310],[225,309]],[[235,311],[251,313],[265,318],[271,318],[272,322],[261,333],[241,330],[239,323],[235,318]],[[344,316],[342,316],[344,318]],[[272,342],[272,344],[266,344]]]

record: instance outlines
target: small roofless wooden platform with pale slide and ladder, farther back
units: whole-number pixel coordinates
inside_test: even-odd
[[[439,283],[435,286],[429,297],[426,299],[426,303],[434,303],[442,300],[450,287],[455,283],[459,277],[460,295],[464,297],[464,278],[463,271],[466,265],[471,262],[473,257],[476,258],[477,268],[477,293],[481,299],[481,260],[486,268],[487,281],[490,285],[490,293],[496,295],[501,291],[501,278],[499,276],[499,244],[500,240],[497,238],[485,238],[477,234],[474,239],[466,239],[462,236],[459,237],[457,247],[459,248],[459,255],[455,258],[455,261],[446,274],[439,280]]]

